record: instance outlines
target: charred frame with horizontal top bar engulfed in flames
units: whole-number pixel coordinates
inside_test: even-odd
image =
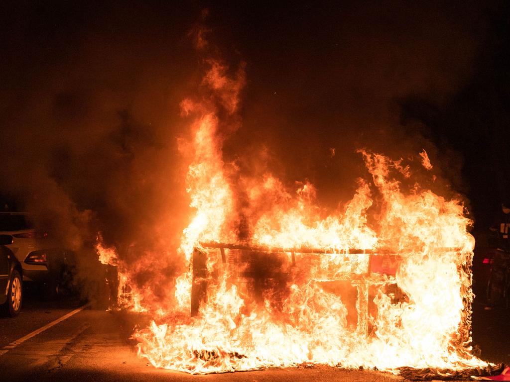
[[[347,322],[358,335],[374,329],[378,292],[392,304],[408,301],[398,287],[396,272],[401,257],[374,250],[283,249],[207,242],[194,248],[192,258],[191,316],[199,314],[208,290],[221,278],[235,285],[251,304],[283,304],[289,285],[314,283],[338,295],[347,308]]]

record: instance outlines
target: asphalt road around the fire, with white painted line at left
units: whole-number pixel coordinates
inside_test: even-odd
[[[27,299],[17,318],[0,319],[0,381],[402,381],[388,373],[347,371],[333,367],[269,369],[193,376],[156,369],[136,356],[129,337],[133,317],[86,307],[49,329],[16,344],[23,336],[79,308],[76,301],[44,303]],[[475,304],[474,342],[481,356],[510,362],[507,312],[484,310]],[[15,343],[15,346],[9,344]]]

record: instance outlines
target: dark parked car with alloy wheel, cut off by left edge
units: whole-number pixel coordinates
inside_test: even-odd
[[[11,317],[19,314],[23,300],[23,268],[6,245],[12,244],[11,235],[0,235],[0,310]]]

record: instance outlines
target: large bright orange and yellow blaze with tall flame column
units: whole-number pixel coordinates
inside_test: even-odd
[[[188,373],[487,366],[471,355],[464,206],[403,186],[411,164],[432,169],[426,152],[407,164],[360,150],[366,179],[328,213],[313,184],[289,189],[270,172],[244,176],[223,162],[222,118],[236,115],[243,84],[242,68],[230,77],[209,61],[201,86],[210,96],[181,104],[192,120],[182,147],[192,153],[193,212],[177,251],[189,267],[172,281],[171,301],[137,289],[134,269],[98,243],[101,261],[118,266],[119,305],[154,317],[134,334],[139,356]]]

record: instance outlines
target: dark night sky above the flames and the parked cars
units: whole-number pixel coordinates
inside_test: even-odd
[[[226,160],[244,158],[246,171],[263,160],[334,205],[365,174],[356,149],[426,149],[475,230],[510,202],[506,2],[149,3],[0,5],[4,199],[69,237],[138,237],[169,208],[178,220],[179,102],[203,69],[200,24],[233,71],[246,65]]]

